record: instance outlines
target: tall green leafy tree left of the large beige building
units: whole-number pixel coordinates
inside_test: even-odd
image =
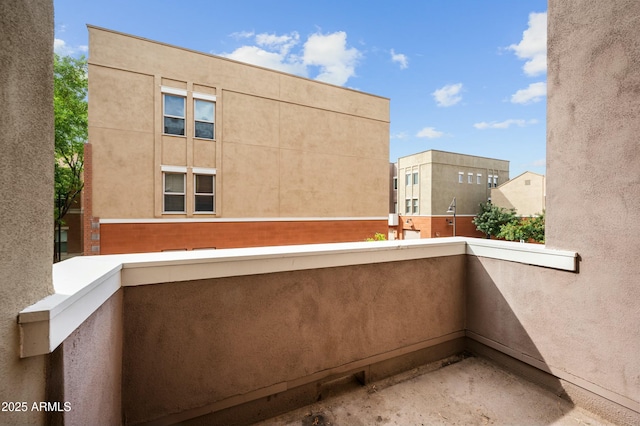
[[[54,54],[55,200],[54,220],[63,222],[84,182],[87,141],[87,61]]]

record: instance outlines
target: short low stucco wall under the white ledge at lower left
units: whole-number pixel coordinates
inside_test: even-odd
[[[115,293],[51,354],[47,399],[70,410],[52,424],[122,424],[122,291]]]

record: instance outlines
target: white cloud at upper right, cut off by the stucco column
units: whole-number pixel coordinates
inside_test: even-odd
[[[525,74],[536,76],[547,72],[547,12],[530,13],[529,27],[518,44],[508,47],[520,59],[525,59]]]

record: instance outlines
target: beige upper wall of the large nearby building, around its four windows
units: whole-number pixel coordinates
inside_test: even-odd
[[[89,27],[93,216],[386,217],[389,100]],[[162,89],[186,91],[186,136],[163,135]],[[215,140],[193,97],[216,96]],[[186,168],[186,214],[163,214],[162,166]],[[193,168],[215,169],[194,214]]]

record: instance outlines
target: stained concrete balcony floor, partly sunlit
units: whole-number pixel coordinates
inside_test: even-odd
[[[257,424],[612,424],[478,357],[429,364],[368,386],[336,383],[332,393],[315,404]]]

